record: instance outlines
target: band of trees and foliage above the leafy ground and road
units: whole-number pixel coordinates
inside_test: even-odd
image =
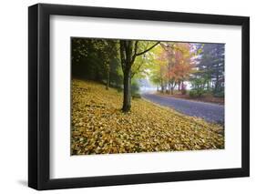
[[[123,111],[145,78],[161,93],[224,97],[224,45],[72,38],[72,75],[122,90]]]

